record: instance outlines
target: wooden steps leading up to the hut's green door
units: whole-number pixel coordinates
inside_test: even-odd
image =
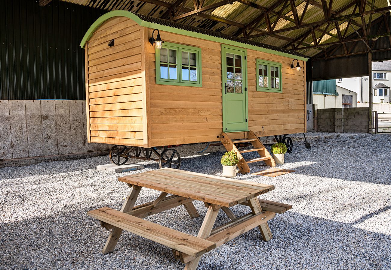
[[[232,140],[231,137],[236,137],[236,140]],[[246,174],[250,172],[250,167],[248,163],[253,162],[259,162],[264,161],[266,165],[269,165],[270,167],[275,167],[276,162],[274,162],[274,159],[270,155],[269,151],[265,148],[265,146],[262,144],[262,142],[259,140],[259,138],[255,135],[253,131],[248,131],[247,134],[244,134],[245,139],[237,139],[237,133],[221,133],[221,143],[224,145],[224,147],[227,149],[227,151],[234,151],[237,153],[239,158],[239,172],[242,174]],[[240,137],[239,137],[240,138]],[[239,150],[237,144],[243,144],[248,143],[252,144],[253,148],[250,149],[243,149]],[[236,145],[235,145],[236,144]],[[251,159],[244,159],[242,153],[251,153],[251,152],[257,152],[260,156],[259,158],[251,158]]]

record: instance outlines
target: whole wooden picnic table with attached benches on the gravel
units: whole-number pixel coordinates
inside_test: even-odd
[[[121,211],[109,207],[88,211],[100,225],[111,230],[102,252],[115,249],[123,230],[135,233],[172,249],[174,257],[185,263],[185,269],[196,269],[201,255],[233,238],[258,227],[265,241],[272,238],[267,221],[276,213],[291,209],[291,205],[276,203],[257,196],[274,190],[273,185],[211,176],[171,168],[162,168],[119,177],[128,184],[130,191]],[[156,200],[135,206],[141,188],[151,188],[162,193]],[[170,196],[167,196],[172,194]],[[143,220],[142,218],[183,205],[192,218],[199,217],[193,201],[202,201],[208,208],[199,233],[196,236],[176,231]],[[249,206],[249,213],[236,217],[231,207],[237,204]],[[219,210],[230,222],[213,228]]]

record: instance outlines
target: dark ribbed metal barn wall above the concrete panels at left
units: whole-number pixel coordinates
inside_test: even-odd
[[[0,99],[85,99],[79,43],[104,12],[58,0],[0,7]]]

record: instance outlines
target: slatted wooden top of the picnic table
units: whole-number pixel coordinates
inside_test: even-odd
[[[119,181],[160,190],[206,203],[231,207],[274,190],[273,185],[253,183],[197,172],[162,168],[119,177]]]

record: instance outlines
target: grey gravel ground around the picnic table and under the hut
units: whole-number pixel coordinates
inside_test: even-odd
[[[204,254],[199,269],[390,269],[391,136],[308,133],[312,149],[305,148],[302,135],[292,139],[293,153],[280,167],[295,172],[276,178],[237,176],[275,185],[260,197],[292,204],[292,210],[269,221],[273,239],[264,242],[253,229]],[[223,149],[197,153],[204,147],[178,147],[181,169],[221,175]],[[109,232],[86,211],[119,210],[128,188],[117,177],[132,173],[95,169],[105,163],[107,156],[0,169],[1,269],[183,268],[170,249],[127,232],[115,252],[101,253]],[[143,171],[158,168],[156,162],[139,163],[145,164]],[[250,168],[265,169],[256,163]],[[158,194],[143,189],[137,204]],[[199,202],[195,207],[199,218],[191,219],[180,206],[147,219],[196,235],[206,208]],[[248,209],[235,206],[233,211],[241,215]],[[221,211],[217,224],[227,221]]]

